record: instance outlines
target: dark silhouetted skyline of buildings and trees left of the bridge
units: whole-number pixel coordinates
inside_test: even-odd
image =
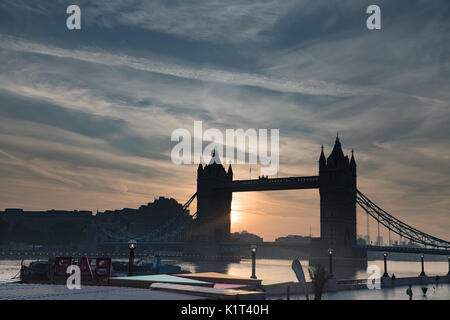
[[[182,213],[181,218],[180,213]],[[170,222],[177,217],[177,225]],[[7,208],[0,211],[0,244],[30,244],[75,247],[95,246],[119,241],[124,235],[145,236],[161,225],[170,228],[191,220],[189,211],[175,199],[160,197],[138,209],[91,211],[24,211]],[[182,240],[184,235],[176,235]]]

